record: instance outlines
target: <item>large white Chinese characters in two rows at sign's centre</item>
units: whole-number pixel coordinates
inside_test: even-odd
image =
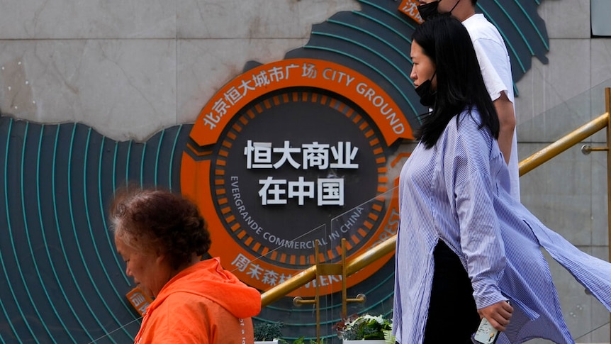
[[[269,142],[252,142],[248,140],[244,148],[246,168],[252,169],[279,169],[288,164],[296,170],[352,169],[359,168],[354,162],[359,148],[352,147],[352,143],[340,141],[331,146],[327,143],[304,143],[301,147],[291,147],[291,142],[284,141],[282,147],[272,147]],[[301,159],[296,157],[301,155]],[[277,157],[274,160],[274,157]],[[299,162],[298,162],[299,161]],[[306,181],[299,177],[296,181],[286,179],[259,179],[259,197],[264,206],[271,204],[287,204],[288,199],[297,199],[300,206],[306,199],[316,199],[318,206],[344,205],[344,179],[318,178]],[[318,197],[316,196],[318,194]]]

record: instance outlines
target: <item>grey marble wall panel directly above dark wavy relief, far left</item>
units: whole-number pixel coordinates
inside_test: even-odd
[[[175,61],[174,40],[3,41],[0,111],[145,140],[176,123]]]

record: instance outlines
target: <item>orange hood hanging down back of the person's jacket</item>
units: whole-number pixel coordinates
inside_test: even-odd
[[[176,292],[185,292],[210,299],[237,318],[250,318],[261,311],[261,294],[248,287],[230,271],[223,269],[220,258],[202,260],[176,274],[161,289],[147,308],[154,311]]]

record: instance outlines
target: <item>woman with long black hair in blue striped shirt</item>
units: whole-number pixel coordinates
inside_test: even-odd
[[[393,331],[398,343],[574,343],[544,248],[611,311],[611,265],[546,228],[510,196],[499,122],[469,33],[456,18],[418,26],[411,49],[420,140],[400,174]]]

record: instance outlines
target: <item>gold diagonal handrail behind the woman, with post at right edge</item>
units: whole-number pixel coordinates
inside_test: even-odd
[[[563,138],[557,140],[551,145],[548,145],[546,148],[543,148],[542,150],[539,150],[539,152],[536,152],[527,157],[525,160],[522,160],[522,162],[519,164],[519,173],[520,176],[527,174],[528,172],[534,170],[534,168],[539,167],[544,162],[550,160],[552,157],[559,155],[561,152],[564,152],[573,145],[576,145],[576,143],[581,142],[590,135],[600,131],[602,128],[607,127],[607,148],[603,148],[602,150],[607,151],[607,216],[609,216],[609,257],[611,259],[611,149],[608,147],[608,145],[611,143],[611,118],[609,116],[609,113],[611,113],[611,89],[608,87],[605,89],[605,107],[607,111],[606,113],[598,116],[598,118],[595,118],[593,121],[585,123],[575,131],[568,133]],[[371,262],[375,262],[389,253],[393,253],[396,247],[396,242],[397,235],[393,235],[383,243],[371,248],[371,250],[366,250],[361,255],[349,260],[346,267],[347,275],[354,274],[355,272],[371,264]],[[299,272],[290,279],[287,279],[281,284],[278,284],[275,287],[267,290],[267,292],[261,294],[261,306],[265,307],[275,301],[278,301],[282,297],[302,287],[304,284],[312,281],[315,278],[316,265],[313,265],[312,267],[308,267],[308,269]]]

